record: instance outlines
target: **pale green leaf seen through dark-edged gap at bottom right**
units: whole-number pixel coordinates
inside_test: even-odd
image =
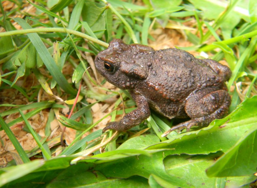
[[[255,179],[254,175],[244,177],[208,177],[206,168],[215,163],[220,153],[209,155],[172,155],[167,156],[163,163],[166,172],[174,177],[184,180],[195,187],[239,187]],[[201,178],[199,178],[201,177]],[[246,180],[246,181],[244,181]],[[248,181],[247,181],[248,180]]]

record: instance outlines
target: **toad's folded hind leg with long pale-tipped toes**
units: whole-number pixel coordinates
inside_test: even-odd
[[[222,118],[227,113],[231,98],[227,91],[216,88],[203,88],[192,92],[185,103],[185,111],[191,120],[171,127],[162,136],[173,130],[189,129],[192,126],[207,126],[214,119]]]

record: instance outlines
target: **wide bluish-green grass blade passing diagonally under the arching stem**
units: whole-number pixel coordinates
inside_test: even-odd
[[[21,18],[14,19],[23,29],[31,29],[32,27]],[[46,46],[40,39],[37,33],[29,33],[28,37],[32,44],[37,49],[37,52],[41,59],[43,60],[44,64],[46,65],[47,69],[53,76],[54,80],[59,84],[59,86],[67,93],[76,94],[76,91],[69,85],[68,81],[65,79],[64,75],[62,74],[61,70],[56,65],[54,59],[52,58],[51,54],[48,52]]]

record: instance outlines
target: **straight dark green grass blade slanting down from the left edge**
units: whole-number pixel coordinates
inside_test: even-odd
[[[15,135],[13,134],[13,132],[11,131],[9,126],[6,124],[6,122],[4,121],[2,116],[0,116],[0,125],[1,125],[2,129],[5,131],[5,133],[7,134],[7,136],[9,137],[9,139],[11,140],[11,143],[13,144],[13,146],[15,147],[17,152],[19,153],[21,160],[24,163],[30,162],[29,157],[25,153],[24,149],[21,147],[19,141],[16,139]],[[0,178],[0,179],[2,180],[2,178]],[[1,185],[1,183],[0,183],[0,185]]]

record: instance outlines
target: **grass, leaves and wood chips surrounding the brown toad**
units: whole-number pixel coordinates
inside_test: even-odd
[[[2,1],[0,186],[256,186],[254,7],[255,0]],[[226,63],[228,116],[164,138],[173,120],[152,113],[126,133],[102,134],[106,122],[135,109],[128,92],[94,68],[113,38]]]

